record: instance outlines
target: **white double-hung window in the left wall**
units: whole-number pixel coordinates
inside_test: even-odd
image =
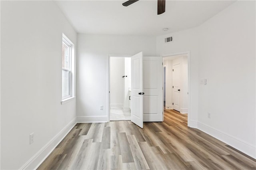
[[[74,44],[62,36],[62,101],[74,97]],[[72,62],[73,61],[73,62]]]

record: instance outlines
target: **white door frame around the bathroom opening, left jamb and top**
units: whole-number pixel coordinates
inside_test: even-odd
[[[108,122],[110,122],[110,57],[132,57],[132,55],[119,55],[119,54],[109,54],[108,55],[108,72],[107,72],[107,111],[108,111]]]

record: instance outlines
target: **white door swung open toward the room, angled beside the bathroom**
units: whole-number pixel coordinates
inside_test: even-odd
[[[131,121],[143,128],[143,53],[131,57]]]

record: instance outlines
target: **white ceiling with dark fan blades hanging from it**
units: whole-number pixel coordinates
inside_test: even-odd
[[[157,0],[56,1],[78,33],[159,36],[199,26],[234,1],[166,0],[166,12],[157,15]],[[169,28],[164,32],[163,28]]]

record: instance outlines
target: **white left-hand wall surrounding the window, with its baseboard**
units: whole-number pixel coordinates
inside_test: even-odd
[[[62,32],[76,45],[54,2],[1,1],[1,169],[36,168],[76,121],[76,100],[60,103]]]

